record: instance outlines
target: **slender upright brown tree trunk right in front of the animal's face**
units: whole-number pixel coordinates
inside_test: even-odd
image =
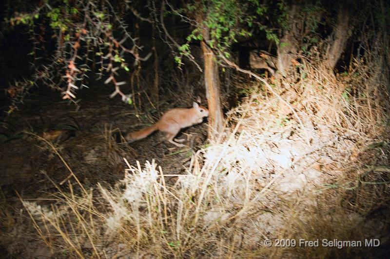
[[[210,35],[207,28],[203,29],[204,40],[209,40]],[[206,97],[209,105],[209,138],[214,139],[217,133],[222,131],[223,115],[220,98],[220,85],[218,64],[215,54],[210,50],[205,42],[201,42],[204,60],[204,81],[206,86]]]

